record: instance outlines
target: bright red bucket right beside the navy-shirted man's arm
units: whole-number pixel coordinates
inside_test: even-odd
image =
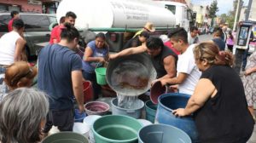
[[[90,101],[93,99],[93,88],[92,88],[92,83],[90,81],[84,81],[83,83],[84,86],[84,103]]]

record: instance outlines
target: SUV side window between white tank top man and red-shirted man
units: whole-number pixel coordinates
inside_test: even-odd
[[[49,31],[49,19],[46,15],[20,15],[26,31]]]

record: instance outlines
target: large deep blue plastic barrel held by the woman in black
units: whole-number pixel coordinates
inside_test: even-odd
[[[169,124],[182,129],[193,142],[198,142],[198,133],[195,127],[195,120],[192,116],[176,117],[172,110],[184,108],[189,100],[189,94],[169,93],[162,94],[158,98],[155,123]]]

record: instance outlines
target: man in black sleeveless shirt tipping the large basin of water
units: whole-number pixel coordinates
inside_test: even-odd
[[[147,52],[150,55],[155,71],[157,72],[157,80],[154,82],[176,76],[177,54],[167,48],[159,37],[149,37],[146,45],[135,48],[124,49],[117,54],[110,54],[109,58],[114,59],[119,56],[139,54]]]

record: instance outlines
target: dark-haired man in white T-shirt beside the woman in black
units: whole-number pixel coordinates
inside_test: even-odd
[[[177,77],[160,80],[162,85],[178,84],[180,93],[193,94],[195,85],[201,77],[201,72],[195,65],[193,49],[195,44],[189,46],[188,34],[183,28],[177,28],[169,34],[174,49],[181,54],[177,60]]]

